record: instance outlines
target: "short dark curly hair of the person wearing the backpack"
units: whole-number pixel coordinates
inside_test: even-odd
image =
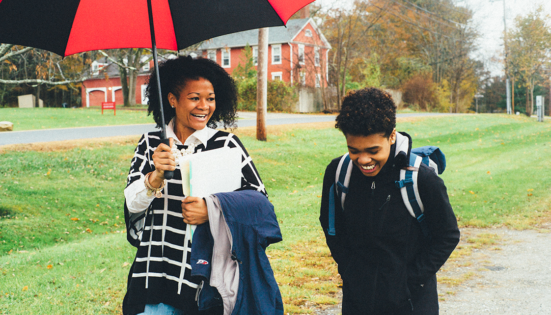
[[[335,128],[344,135],[384,134],[396,128],[396,104],[387,92],[376,88],[350,91],[343,98]]]

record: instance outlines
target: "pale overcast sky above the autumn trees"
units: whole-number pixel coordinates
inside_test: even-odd
[[[473,10],[474,27],[481,37],[478,41],[479,50],[476,58],[484,61],[493,75],[503,75],[503,65],[493,59],[503,58],[503,2],[505,1],[506,24],[510,30],[514,26],[517,15],[526,15],[540,4],[545,12],[551,15],[551,0],[462,0],[456,1],[457,6]],[[352,6],[353,0],[316,0],[325,7]]]

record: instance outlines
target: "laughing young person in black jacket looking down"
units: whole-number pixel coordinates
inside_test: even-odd
[[[352,91],[336,121],[353,167],[344,207],[334,200],[334,232],[329,232],[330,190],[341,157],[327,166],[320,222],[343,280],[342,314],[438,314],[436,271],[460,235],[444,182],[433,169],[419,167],[425,237],[395,184],[408,166],[412,140],[396,132],[392,97],[375,88]],[[409,149],[397,150],[397,142]]]

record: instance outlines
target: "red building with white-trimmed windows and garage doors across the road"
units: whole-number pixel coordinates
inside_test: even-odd
[[[247,44],[256,57],[257,42],[258,30],[243,31],[205,41],[197,53],[213,59],[231,74],[238,64],[245,63],[244,48]],[[327,54],[331,45],[312,19],[291,19],[287,27],[270,28],[268,45],[268,80],[300,83],[312,90],[327,86]],[[136,104],[147,104],[145,86],[152,67],[153,61],[150,61],[138,73]],[[101,106],[101,102],[123,105],[118,66],[102,58],[92,63],[91,70],[93,77],[83,82],[82,106]]]

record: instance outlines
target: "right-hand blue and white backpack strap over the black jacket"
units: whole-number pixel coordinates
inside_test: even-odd
[[[426,238],[430,238],[425,215],[423,214],[424,206],[421,197],[419,197],[417,184],[417,175],[422,160],[422,157],[413,153],[409,155],[409,166],[400,170],[400,180],[396,181],[396,187],[400,188],[404,205],[406,205],[409,213],[419,222],[423,235]]]

